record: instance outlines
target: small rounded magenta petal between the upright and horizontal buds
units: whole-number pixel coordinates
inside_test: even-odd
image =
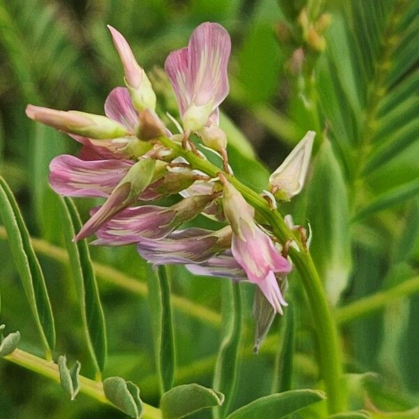
[[[126,87],[115,87],[108,94],[105,101],[105,115],[119,122],[128,131],[135,131],[138,125],[138,112]]]

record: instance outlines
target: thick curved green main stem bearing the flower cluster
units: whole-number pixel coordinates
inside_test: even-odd
[[[214,166],[207,160],[201,159],[196,154],[189,152],[169,138],[159,138],[159,141],[175,154],[183,156],[189,161],[193,169],[201,170],[211,177],[216,177],[222,170]],[[320,362],[323,379],[325,381],[326,392],[328,393],[328,407],[330,414],[338,413],[346,409],[346,396],[341,386],[341,351],[339,339],[337,337],[337,328],[330,313],[328,302],[326,300],[323,284],[318,276],[316,267],[308,251],[304,249],[300,240],[295,237],[291,230],[286,226],[284,219],[278,211],[273,211],[265,199],[258,193],[242,184],[235,177],[224,173],[228,181],[242,193],[247,202],[254,207],[272,226],[272,233],[282,242],[287,240],[295,241],[300,250],[293,247],[290,249],[290,256],[299,270],[302,278],[302,284],[307,293],[311,313],[313,315],[314,327],[316,328],[318,344],[320,346]]]

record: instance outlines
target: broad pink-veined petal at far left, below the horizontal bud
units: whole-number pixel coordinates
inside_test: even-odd
[[[130,161],[83,161],[63,154],[50,163],[51,188],[63,196],[107,198],[133,166]]]

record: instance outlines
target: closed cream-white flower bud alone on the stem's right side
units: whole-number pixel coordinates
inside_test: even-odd
[[[284,163],[270,175],[269,183],[272,193],[279,200],[290,200],[300,193],[310,163],[314,131],[309,131],[286,157]]]

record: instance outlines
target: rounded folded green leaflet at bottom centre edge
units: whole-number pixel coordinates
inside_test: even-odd
[[[163,419],[179,419],[212,406],[221,406],[224,395],[221,392],[199,384],[184,384],[172,388],[161,398],[160,409]]]

